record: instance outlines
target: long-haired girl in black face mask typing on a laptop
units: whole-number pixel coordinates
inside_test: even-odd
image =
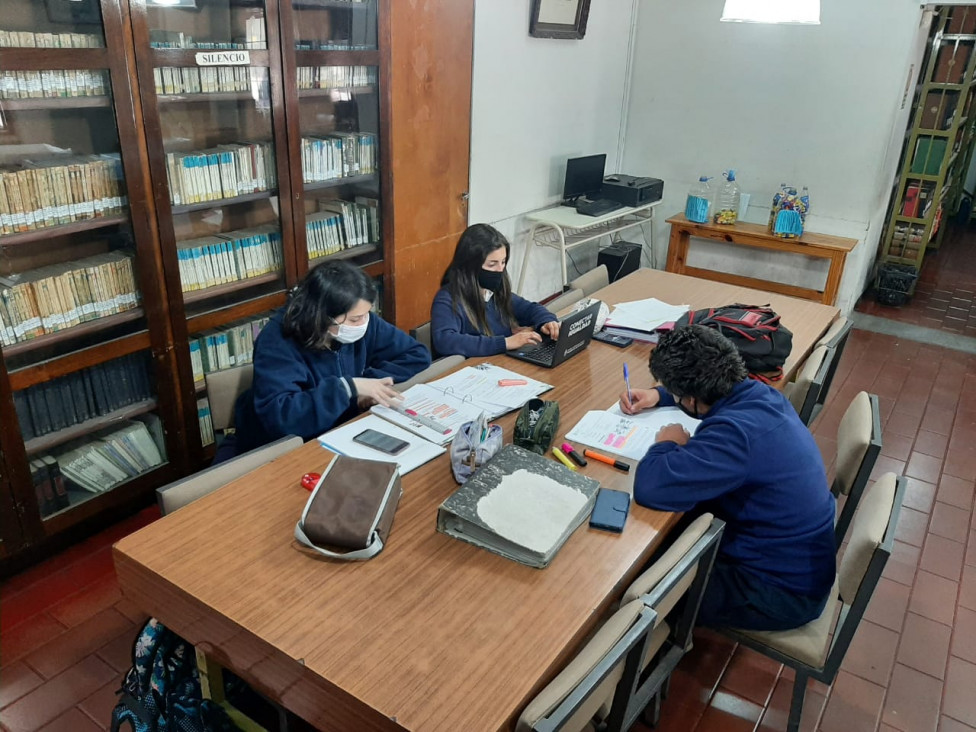
[[[559,336],[556,316],[512,292],[508,240],[488,224],[469,226],[430,307],[434,353],[493,356]],[[538,329],[539,332],[536,332]]]

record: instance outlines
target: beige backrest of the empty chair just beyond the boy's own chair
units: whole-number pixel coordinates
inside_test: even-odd
[[[837,519],[840,546],[854,518],[864,487],[881,454],[881,406],[878,397],[859,392],[851,401],[837,428],[837,465],[831,491],[847,496]]]

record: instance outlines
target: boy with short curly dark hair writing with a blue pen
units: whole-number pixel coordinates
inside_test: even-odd
[[[710,328],[662,336],[650,367],[661,386],[625,392],[621,409],[676,405],[701,424],[693,437],[674,424],[658,432],[634,500],[725,521],[699,622],[786,630],[818,617],[834,582],[834,497],[810,431]]]

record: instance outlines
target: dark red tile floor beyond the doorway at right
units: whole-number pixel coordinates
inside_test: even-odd
[[[976,336],[976,228],[950,224],[942,246],[922,262],[915,295],[905,305],[879,305],[868,293],[856,310],[901,323]]]

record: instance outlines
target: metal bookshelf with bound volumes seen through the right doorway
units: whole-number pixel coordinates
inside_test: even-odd
[[[933,23],[901,172],[882,239],[882,268],[921,269],[958,205],[976,125],[976,8],[948,6]],[[887,267],[886,267],[887,266]],[[879,287],[884,283],[879,279]]]

